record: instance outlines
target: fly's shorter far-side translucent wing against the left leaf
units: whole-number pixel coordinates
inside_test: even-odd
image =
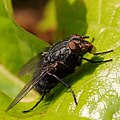
[[[27,75],[30,72],[34,71],[35,67],[38,65],[38,63],[41,62],[42,53],[37,54],[35,57],[30,59],[19,71],[19,75]]]

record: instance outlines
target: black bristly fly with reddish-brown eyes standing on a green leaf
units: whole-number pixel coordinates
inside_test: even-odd
[[[6,111],[13,108],[26,94],[28,94],[28,92],[31,91],[31,89],[34,88],[41,95],[41,98],[31,109],[23,111],[23,113],[33,110],[43,100],[44,96],[58,83],[62,83],[70,90],[74,102],[77,105],[74,91],[71,86],[63,80],[63,78],[73,73],[75,68],[81,65],[82,60],[86,60],[91,63],[112,61],[112,59],[94,61],[84,58],[83,55],[87,52],[94,55],[100,55],[113,51],[109,50],[106,52],[96,53],[95,46],[86,41],[86,38],[89,38],[89,36],[80,36],[77,34],[71,35],[67,39],[54,44],[48,50],[43,53],[39,53],[28,61],[28,63],[21,69],[20,74],[26,74],[33,70],[32,80],[25,85]]]

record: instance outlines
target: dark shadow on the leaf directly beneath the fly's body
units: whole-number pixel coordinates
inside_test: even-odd
[[[91,58],[91,60],[96,60],[96,59],[98,61],[99,60],[103,61],[104,57],[102,57],[102,56],[93,56]],[[66,83],[68,83],[72,87],[72,85],[74,85],[77,81],[82,80],[82,78],[84,76],[93,74],[94,71],[96,70],[96,68],[98,66],[102,65],[102,64],[106,64],[106,63],[90,63],[90,62],[86,61],[80,67],[78,67],[73,74],[71,74],[68,77],[66,77],[64,79],[64,81]],[[72,87],[72,89],[74,90],[73,87]],[[51,101],[52,101],[52,103],[54,103],[61,95],[66,93],[66,91],[69,91],[69,89],[67,89],[63,84],[59,83],[55,88],[53,88],[51,90],[50,94],[48,94],[43,101],[46,102],[46,105],[50,104]],[[76,92],[78,92],[78,91],[76,91]],[[69,92],[69,94],[71,95],[70,92]]]

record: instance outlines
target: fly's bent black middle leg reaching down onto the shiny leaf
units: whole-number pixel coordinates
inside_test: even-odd
[[[59,82],[61,82],[62,84],[64,84],[68,89],[70,89],[70,92],[72,93],[72,96],[73,96],[73,99],[75,101],[75,104],[77,105],[77,100],[76,100],[76,96],[75,96],[75,93],[74,91],[72,90],[71,86],[68,85],[66,82],[64,82],[62,79],[58,78],[56,75],[54,74],[51,74],[51,73],[48,73],[49,75],[52,75],[53,77],[55,77]]]

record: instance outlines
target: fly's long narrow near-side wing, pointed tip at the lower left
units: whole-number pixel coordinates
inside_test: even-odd
[[[34,79],[32,79],[22,90],[21,92],[16,96],[16,98],[12,101],[10,106],[7,108],[6,111],[13,108],[41,79],[43,79],[48,72],[51,71],[51,68],[46,69],[44,72],[42,72],[39,76],[36,76]]]

